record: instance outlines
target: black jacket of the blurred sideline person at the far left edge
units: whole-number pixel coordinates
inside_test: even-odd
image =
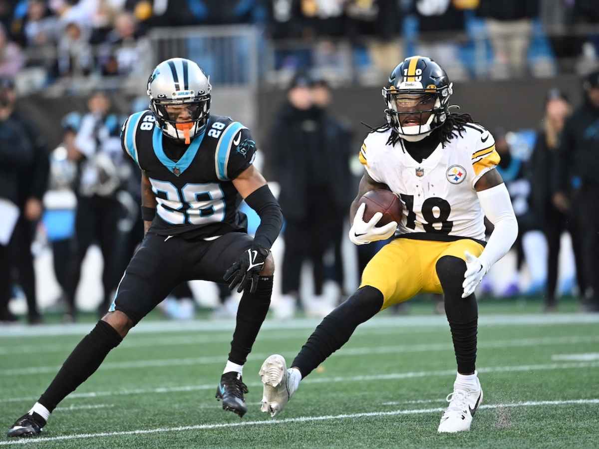
[[[34,147],[23,125],[12,117],[0,120],[0,198],[19,203],[19,175],[33,158]]]

